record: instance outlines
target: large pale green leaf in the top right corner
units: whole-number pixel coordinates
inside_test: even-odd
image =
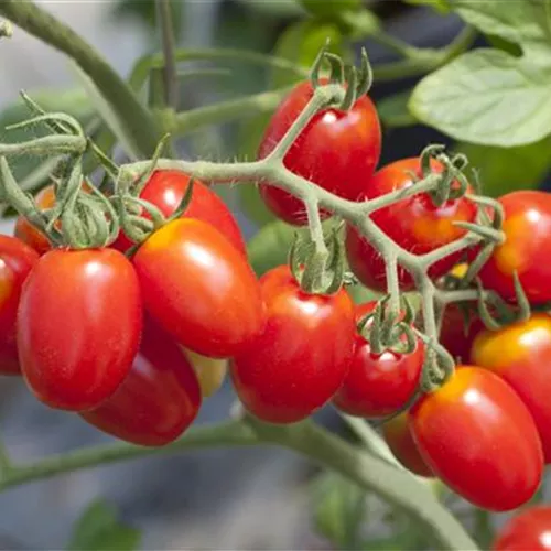
[[[467,23],[518,44],[522,56],[480,48],[415,87],[409,108],[457,140],[487,145],[533,143],[551,133],[550,1],[450,0]]]

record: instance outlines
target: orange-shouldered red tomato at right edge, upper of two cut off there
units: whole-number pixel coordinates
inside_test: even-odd
[[[484,287],[514,301],[514,272],[532,303],[551,301],[551,194],[521,191],[504,195],[506,241],[480,270]]]

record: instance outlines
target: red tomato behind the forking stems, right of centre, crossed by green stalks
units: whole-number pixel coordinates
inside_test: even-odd
[[[433,161],[432,169],[442,172],[444,166]],[[380,169],[371,179],[365,179],[360,198],[372,199],[410,187],[413,181],[409,172],[422,176],[418,158],[396,161]],[[424,255],[463,237],[466,230],[454,223],[473,223],[476,214],[476,205],[465,197],[437,207],[430,195],[420,194],[376,210],[371,219],[400,247],[415,255]],[[346,228],[346,253],[352,271],[361,283],[379,291],[387,290],[385,260],[350,224]],[[435,262],[429,274],[433,279],[444,276],[457,263],[462,253],[460,251]],[[404,268],[398,268],[398,276],[402,290],[413,288],[413,279]]]

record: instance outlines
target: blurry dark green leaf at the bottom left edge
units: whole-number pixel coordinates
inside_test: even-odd
[[[140,531],[117,520],[115,507],[94,501],[77,520],[67,551],[134,551]]]

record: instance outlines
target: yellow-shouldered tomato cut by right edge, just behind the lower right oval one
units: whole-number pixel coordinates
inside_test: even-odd
[[[551,463],[551,316],[533,314],[500,331],[485,329],[473,344],[471,360],[504,378],[536,421],[545,463]]]

